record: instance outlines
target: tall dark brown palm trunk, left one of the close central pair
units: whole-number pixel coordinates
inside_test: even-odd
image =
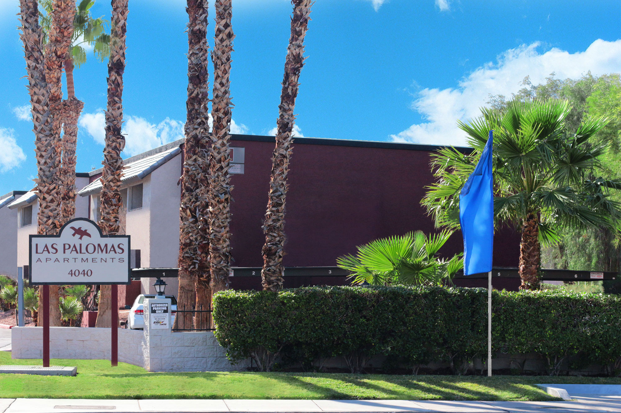
[[[188,0],[188,111],[181,178],[181,227],[179,228],[179,292],[177,306],[189,309],[197,304],[208,306],[209,292],[209,223],[205,193],[209,189],[209,125],[207,102],[207,2]],[[204,282],[199,282],[205,280]],[[207,302],[205,301],[207,296]],[[176,326],[191,326],[190,313],[181,313]]]

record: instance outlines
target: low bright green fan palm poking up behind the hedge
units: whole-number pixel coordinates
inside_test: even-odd
[[[463,268],[461,253],[438,257],[451,231],[425,236],[422,231],[376,239],[356,247],[356,255],[338,257],[338,267],[351,272],[353,283],[371,285],[442,285]]]

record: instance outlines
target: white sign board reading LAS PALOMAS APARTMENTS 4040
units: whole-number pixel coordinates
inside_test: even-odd
[[[55,236],[30,235],[31,284],[128,284],[130,272],[129,235],[103,235],[86,218]]]

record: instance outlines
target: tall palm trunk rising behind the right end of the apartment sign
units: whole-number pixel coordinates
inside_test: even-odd
[[[127,0],[112,0],[112,30],[110,60],[108,62],[108,104],[106,110],[106,147],[104,148],[104,171],[101,177],[102,233],[120,233],[119,210],[120,179],[123,175],[123,159],[120,152],[125,147],[121,135],[123,124],[123,72],[125,71],[125,33],[127,33]],[[96,327],[110,327],[111,286],[102,285]],[[112,309],[118,311],[118,309]]]

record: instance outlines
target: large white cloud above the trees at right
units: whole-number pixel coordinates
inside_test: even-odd
[[[619,73],[621,40],[596,40],[585,51],[569,53],[553,48],[539,53],[539,43],[522,45],[497,56],[496,63],[486,63],[461,79],[457,87],[425,88],[412,102],[425,122],[391,135],[393,141],[425,144],[465,144],[465,134],[457,120],[467,122],[479,116],[489,94],[510,96],[520,89],[519,82],[530,76],[533,84],[545,81],[555,72],[560,79],[576,79],[591,71],[594,75]]]

